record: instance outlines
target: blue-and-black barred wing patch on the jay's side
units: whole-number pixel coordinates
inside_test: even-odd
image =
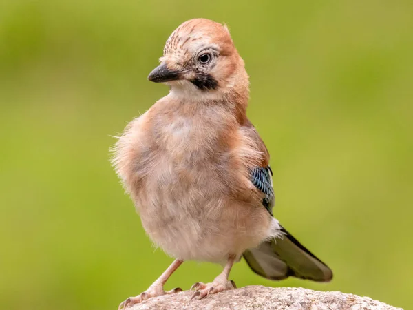
[[[262,199],[262,205],[266,208],[269,214],[273,216],[273,206],[275,202],[275,195],[273,189],[273,182],[271,176],[273,176],[273,171],[270,166],[266,167],[255,167],[251,170],[251,182],[257,189],[265,194]]]

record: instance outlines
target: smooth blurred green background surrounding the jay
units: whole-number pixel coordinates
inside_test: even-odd
[[[167,94],[147,81],[183,21],[228,23],[272,154],[275,216],[335,271],[238,286],[339,290],[413,309],[413,2],[0,3],[1,309],[117,309],[169,265],[112,167],[110,135]],[[167,289],[212,280],[188,262]]]

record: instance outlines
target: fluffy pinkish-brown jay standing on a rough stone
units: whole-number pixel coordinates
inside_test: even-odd
[[[119,309],[182,291],[164,285],[188,260],[224,267],[191,287],[195,300],[234,289],[229,273],[242,257],[267,279],[330,281],[332,270],[273,217],[270,156],[246,116],[249,77],[229,28],[185,21],[159,60],[148,79],[169,93],[117,137],[112,165],[147,235],[175,260]]]

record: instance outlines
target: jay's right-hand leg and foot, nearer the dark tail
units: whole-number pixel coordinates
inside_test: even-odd
[[[237,286],[235,285],[235,282],[233,280],[228,280],[229,271],[231,271],[234,262],[235,257],[230,256],[228,258],[228,261],[226,262],[224,270],[222,271],[222,273],[220,273],[218,277],[216,277],[213,280],[213,282],[206,284],[202,282],[197,282],[194,285],[192,285],[191,289],[195,289],[195,293],[193,294],[191,300],[194,298],[202,299],[205,296],[219,293],[220,291],[226,291],[227,289],[236,289]]]

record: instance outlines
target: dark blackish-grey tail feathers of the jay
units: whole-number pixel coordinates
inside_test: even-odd
[[[273,237],[244,252],[246,262],[255,273],[270,280],[282,280],[288,276],[317,282],[332,279],[332,271],[324,262],[288,234],[284,227],[281,231],[282,238]]]

